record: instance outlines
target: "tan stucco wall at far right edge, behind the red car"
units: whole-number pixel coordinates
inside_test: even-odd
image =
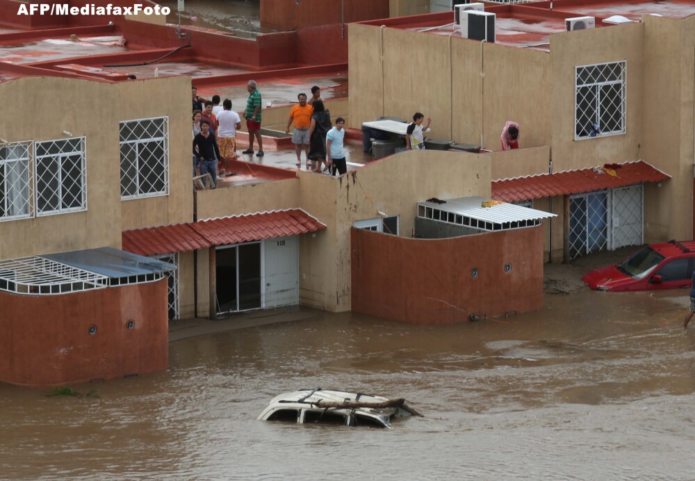
[[[643,20],[644,135],[640,155],[673,177],[661,186],[645,188],[645,241],[689,239],[693,218],[695,17],[678,21],[645,15]]]

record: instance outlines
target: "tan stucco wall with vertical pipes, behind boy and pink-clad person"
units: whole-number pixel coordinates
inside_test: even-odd
[[[350,25],[350,118],[359,128],[381,115],[432,117],[431,138],[500,150],[507,120],[522,147],[547,145],[553,79],[550,55],[395,28]],[[382,63],[383,50],[383,63]],[[417,58],[417,68],[407,70]]]

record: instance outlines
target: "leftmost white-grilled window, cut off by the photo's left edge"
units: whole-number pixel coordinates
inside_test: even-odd
[[[0,145],[0,220],[33,215],[30,147],[31,142]]]

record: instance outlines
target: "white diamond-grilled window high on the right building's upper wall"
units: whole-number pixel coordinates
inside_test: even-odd
[[[625,60],[575,67],[575,140],[625,133]]]

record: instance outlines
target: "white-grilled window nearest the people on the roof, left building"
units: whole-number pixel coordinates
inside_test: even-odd
[[[169,117],[120,122],[121,198],[169,193]]]

